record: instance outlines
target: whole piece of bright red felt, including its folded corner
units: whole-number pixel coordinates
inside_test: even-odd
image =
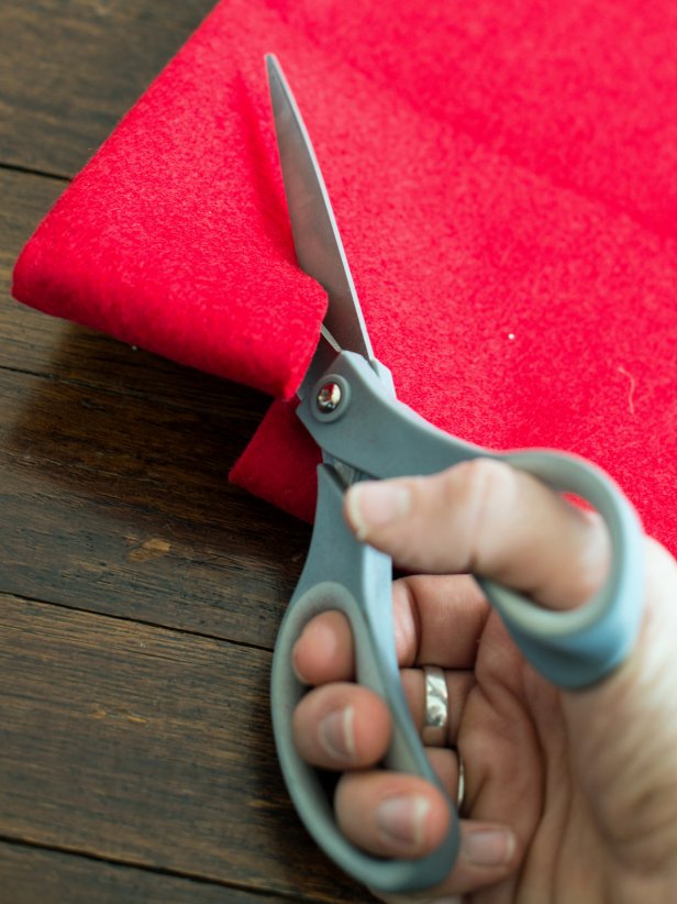
[[[677,551],[677,7],[224,0],[24,250],[15,296],[289,398],[324,310],[295,265],[263,54],[323,168],[399,396],[606,467]],[[233,478],[312,517],[279,401]]]

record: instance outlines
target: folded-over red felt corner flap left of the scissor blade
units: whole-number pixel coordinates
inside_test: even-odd
[[[265,5],[220,4],[40,225],[14,296],[293,394],[325,296],[296,264],[269,109],[264,54],[289,44]]]

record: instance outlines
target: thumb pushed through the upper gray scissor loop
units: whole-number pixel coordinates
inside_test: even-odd
[[[603,521],[524,472],[476,459],[428,477],[364,482],[346,493],[356,536],[422,573],[490,577],[548,608],[585,603],[603,583]]]

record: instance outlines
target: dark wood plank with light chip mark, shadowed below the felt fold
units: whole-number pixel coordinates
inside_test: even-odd
[[[0,588],[271,648],[310,531],[227,483],[229,387],[208,414],[0,370]]]

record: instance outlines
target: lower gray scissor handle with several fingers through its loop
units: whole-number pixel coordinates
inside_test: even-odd
[[[459,844],[458,817],[443,844],[418,860],[388,860],[356,848],[336,826],[320,773],[293,743],[292,713],[306,692],[291,668],[293,644],[321,611],[343,611],[353,630],[357,681],[376,691],[392,716],[386,765],[421,775],[441,787],[413,725],[395,652],[390,558],[357,542],[343,516],[344,486],[330,465],[318,468],[318,508],[312,543],[297,591],[280,626],[273,659],[271,709],[277,752],[289,794],[317,844],[354,879],[380,892],[415,892],[441,882]],[[442,789],[441,789],[442,790]]]

